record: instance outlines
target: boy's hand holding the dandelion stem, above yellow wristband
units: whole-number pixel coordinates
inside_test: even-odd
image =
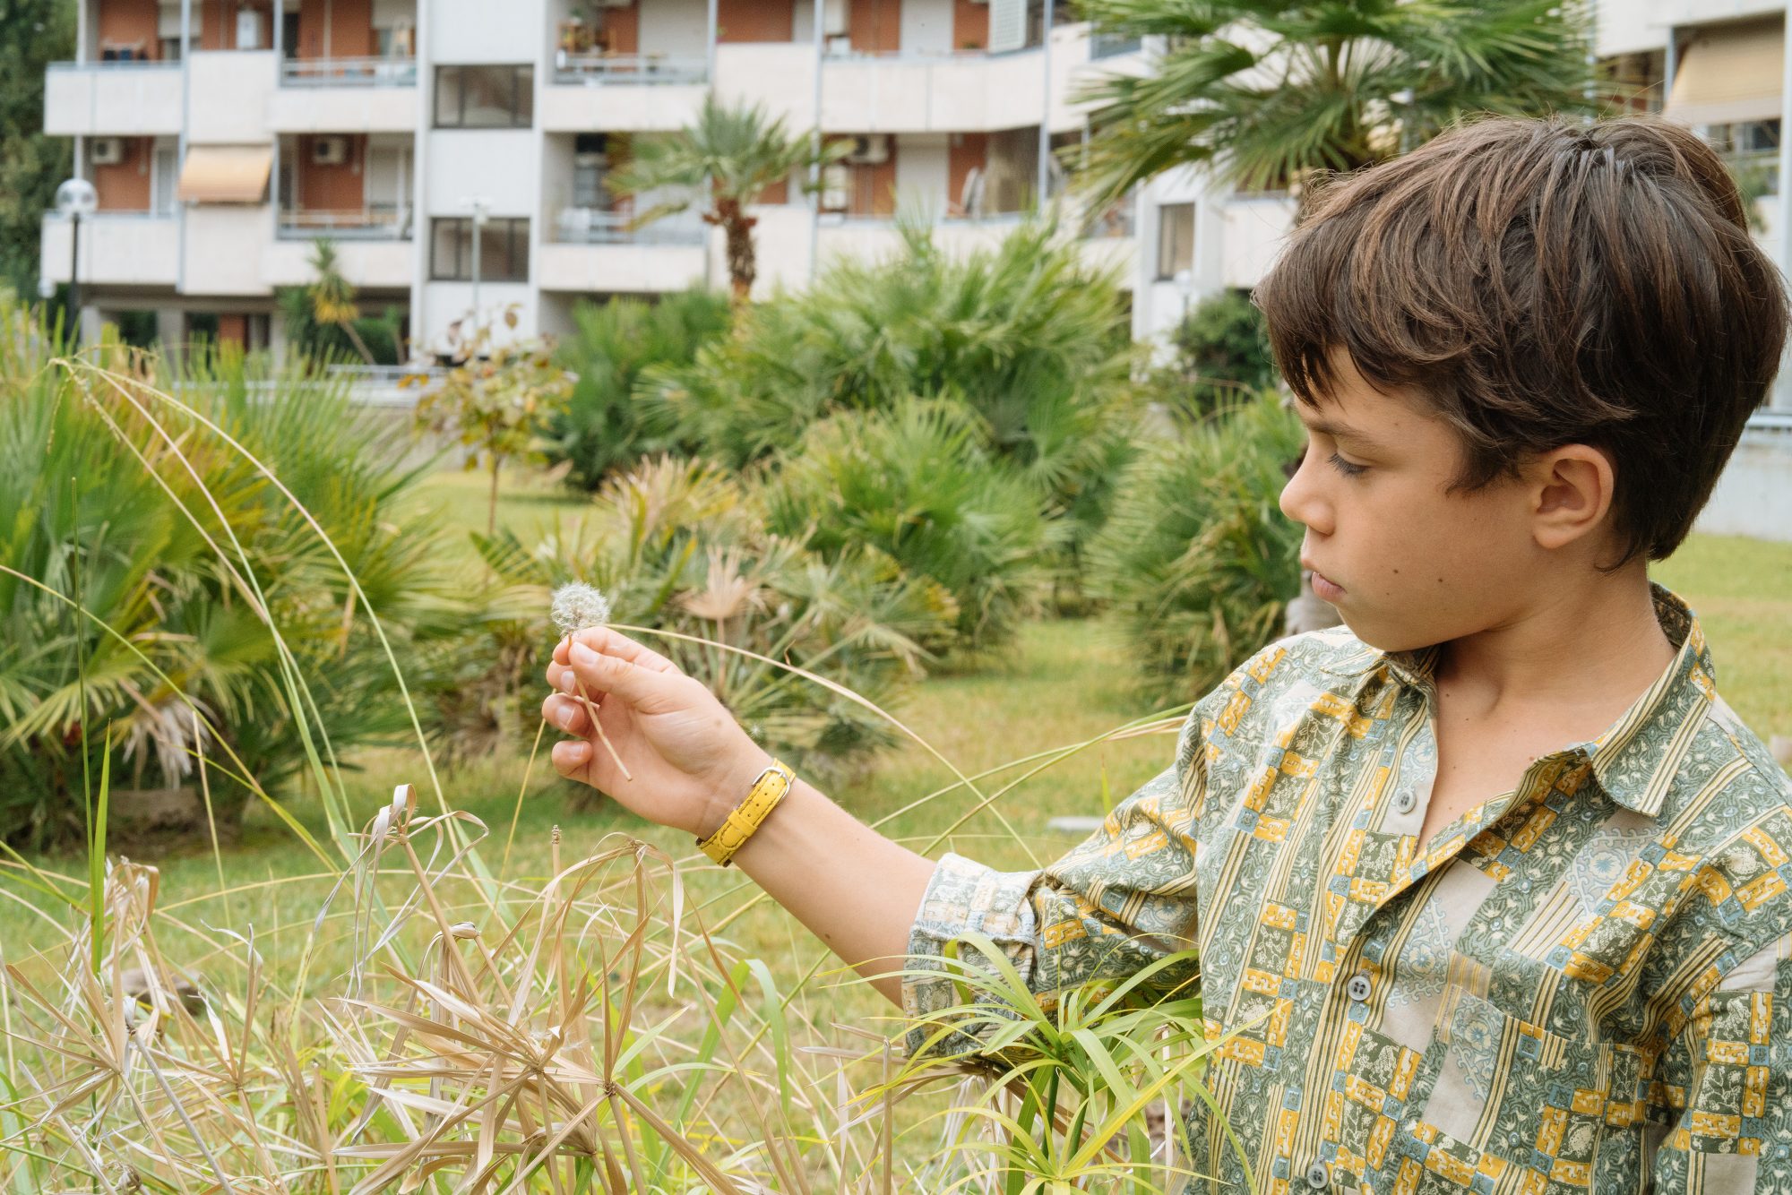
[[[701,681],[609,627],[561,640],[547,675],[556,692],[541,717],[573,736],[554,745],[554,770],[647,821],[708,837],[771,763]],[[575,677],[634,779],[624,779],[591,729]]]

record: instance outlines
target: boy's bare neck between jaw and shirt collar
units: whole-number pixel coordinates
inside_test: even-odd
[[[1502,623],[1443,645],[1439,692],[1482,715],[1582,709],[1609,722],[1674,661],[1645,561],[1534,593]]]

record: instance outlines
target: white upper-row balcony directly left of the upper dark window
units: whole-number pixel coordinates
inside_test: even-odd
[[[418,59],[289,57],[267,107],[274,133],[412,133]]]

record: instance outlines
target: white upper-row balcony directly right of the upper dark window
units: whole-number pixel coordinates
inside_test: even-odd
[[[541,127],[670,131],[702,106],[710,63],[661,54],[568,54],[559,50],[554,86],[541,93]]]

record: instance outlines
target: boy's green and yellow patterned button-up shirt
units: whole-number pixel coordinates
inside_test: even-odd
[[[1206,1032],[1236,1034],[1208,1082],[1262,1191],[1792,1191],[1792,781],[1654,597],[1667,672],[1423,855],[1437,649],[1321,631],[1204,697],[1055,864],[948,853],[910,966],[980,930],[1052,1009],[1197,946]],[[961,1002],[926,975],[903,998]],[[1188,1131],[1188,1166],[1244,1182],[1199,1102]]]

